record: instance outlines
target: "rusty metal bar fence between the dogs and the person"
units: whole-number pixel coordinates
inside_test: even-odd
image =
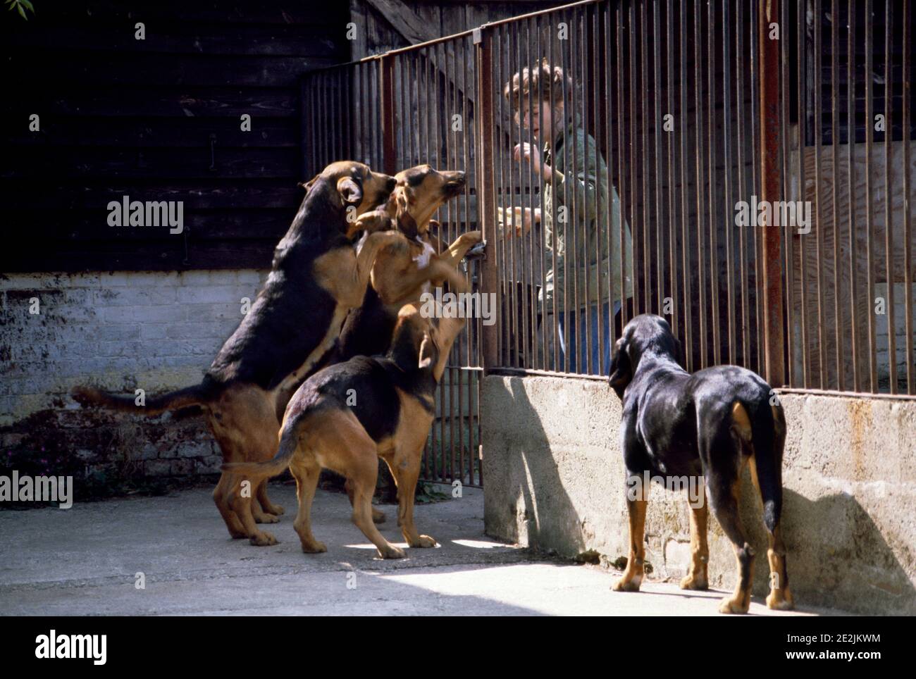
[[[426,477],[480,482],[482,369],[604,379],[638,313],[669,319],[689,371],[916,394],[912,14],[580,2],[306,75],[305,176],[468,173],[440,236],[484,231],[469,275],[497,322],[454,349]]]

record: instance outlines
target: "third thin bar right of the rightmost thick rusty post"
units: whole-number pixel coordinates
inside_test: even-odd
[[[840,276],[840,8],[831,0],[830,14],[830,144],[833,152],[833,181],[830,183],[834,211],[834,335],[836,344],[836,388],[845,387],[845,353],[843,351],[843,281]]]

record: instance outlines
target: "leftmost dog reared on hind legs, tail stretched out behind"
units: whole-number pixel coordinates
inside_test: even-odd
[[[202,383],[147,397],[142,408],[133,397],[89,387],[77,388],[74,397],[144,415],[199,405],[224,462],[272,458],[289,396],[332,350],[347,313],[362,303],[378,250],[399,240],[396,232],[373,232],[358,254],[352,240],[373,229],[375,221],[361,218],[385,204],[394,186],[394,178],[353,161],[333,163],[305,185],[306,196],[278,243],[267,282]],[[240,481],[224,473],[213,491],[229,533],[252,544],[275,544],[256,523],[275,523],[282,508],[267,499],[265,484],[244,492]]]

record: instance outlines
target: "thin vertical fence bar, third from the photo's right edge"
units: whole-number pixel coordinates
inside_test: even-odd
[[[874,205],[872,204],[872,186],[871,186],[871,156],[874,153],[874,136],[875,136],[875,102],[873,100],[872,74],[875,70],[874,65],[874,22],[872,14],[874,8],[872,0],[866,0],[865,5],[865,222],[866,222],[866,258],[867,258],[867,288],[868,299],[866,311],[868,315],[868,391],[874,393],[878,391],[877,379],[877,354],[875,346],[875,313],[872,307],[875,304],[875,253],[873,240],[875,238],[875,217],[873,214]]]

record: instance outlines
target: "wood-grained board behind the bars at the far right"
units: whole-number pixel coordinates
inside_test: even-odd
[[[871,248],[873,258],[873,281],[880,285],[880,290],[886,289],[882,284],[886,284],[889,278],[897,284],[897,295],[894,301],[895,318],[901,318],[905,312],[904,300],[900,295],[904,282],[904,230],[903,230],[903,145],[910,145],[910,176],[916,177],[916,143],[909,142],[892,142],[891,143],[891,163],[890,163],[890,189],[885,190],[885,148],[884,144],[876,144],[871,157]],[[791,318],[793,327],[796,328],[793,340],[792,356],[794,358],[794,370],[798,374],[797,386],[802,386],[802,352],[807,355],[808,370],[811,371],[810,380],[813,385],[819,386],[818,377],[822,370],[821,362],[821,345],[818,334],[817,322],[817,305],[819,298],[818,275],[823,275],[823,288],[821,298],[823,299],[823,328],[822,334],[824,345],[826,347],[826,361],[823,364],[825,370],[825,380],[823,388],[838,388],[838,372],[842,371],[845,380],[845,389],[852,389],[853,384],[853,361],[858,364],[860,379],[863,380],[865,391],[867,391],[867,373],[868,373],[868,319],[874,316],[874,299],[871,299],[867,288],[868,259],[868,218],[867,218],[867,188],[866,188],[866,146],[856,144],[854,158],[854,170],[856,173],[856,184],[853,187],[855,195],[855,211],[850,220],[849,210],[849,145],[839,145],[836,149],[838,173],[834,173],[834,148],[832,146],[821,147],[820,163],[820,195],[816,191],[817,183],[815,181],[816,150],[813,147],[806,147],[804,153],[804,177],[805,177],[805,197],[804,199],[812,202],[812,231],[805,235],[794,234],[792,236],[792,253],[793,253],[793,271],[795,276],[792,281],[791,303],[787,308],[787,313]],[[797,151],[793,157],[797,157]],[[798,186],[798,171],[795,162],[791,164],[791,180],[794,186]],[[837,219],[836,230],[834,231],[834,198],[833,187],[836,182],[837,189],[837,206],[835,217]],[[912,187],[911,187],[912,189]],[[888,257],[886,247],[886,205],[890,196],[890,253]],[[793,197],[793,199],[798,199]],[[910,200],[910,223],[916,223],[916,205]],[[819,215],[820,223],[814,222],[814,212]],[[850,222],[855,233],[855,238],[850,242],[849,229]],[[823,236],[821,241],[821,258],[818,260],[817,246],[819,234]],[[839,237],[839,260],[834,257],[834,241]],[[911,243],[911,251],[916,250],[916,243]],[[805,277],[802,279],[802,256],[805,262]],[[836,278],[834,274],[839,263],[839,286],[835,285]],[[853,265],[855,264],[855,265]],[[889,265],[890,264],[890,265]],[[856,275],[856,352],[852,350],[852,336],[854,332],[852,307],[853,297],[851,292],[851,280],[853,272]],[[910,280],[916,280],[916,260],[910,262]],[[879,291],[876,291],[878,295]],[[802,294],[805,295],[807,305],[807,318],[802,318]],[[914,295],[914,291],[907,291],[905,294]],[[834,305],[839,296],[840,305],[840,340],[843,351],[841,362],[836,358],[836,326],[837,316],[834,311]],[[877,320],[877,319],[876,319]],[[800,329],[802,323],[807,323],[805,343],[802,345]],[[900,322],[896,325],[900,325]],[[893,326],[891,326],[893,327]],[[912,341],[912,340],[911,340]],[[802,346],[805,349],[802,351]],[[887,387],[888,366],[878,366],[879,383]],[[902,375],[898,371],[898,379],[906,379],[906,373]],[[905,389],[905,382],[904,389]]]

